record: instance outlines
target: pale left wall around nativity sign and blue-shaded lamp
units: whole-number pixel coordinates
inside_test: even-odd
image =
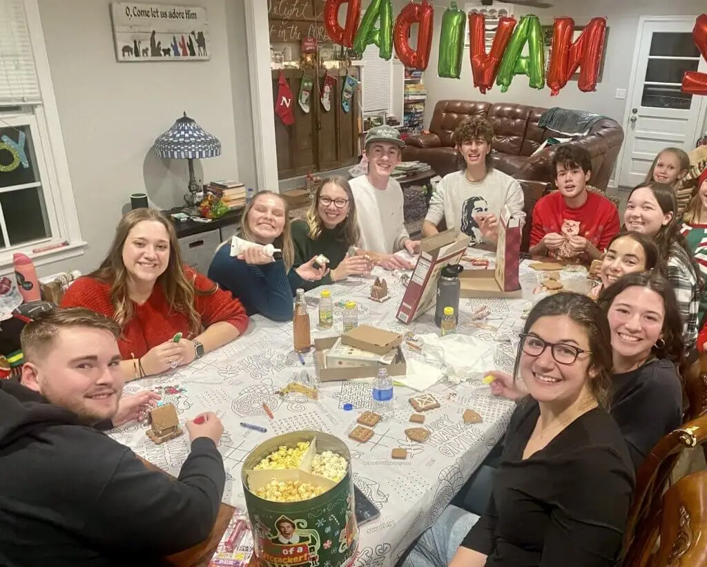
[[[227,2],[237,3],[235,15],[240,10],[241,16],[228,25]],[[157,136],[183,111],[222,144],[221,157],[195,162],[197,179],[240,175],[237,132],[244,124],[252,130],[250,96],[243,95],[249,92],[247,54],[232,57],[229,38],[245,49],[243,0],[169,4],[206,7],[209,61],[117,63],[110,0],[39,0],[81,234],[88,242],[85,255],[42,267],[40,275],[97,267],[130,193],[147,192],[162,209],[183,203],[187,162],[161,160],[152,151]],[[232,76],[245,83],[238,90],[243,100],[233,99]],[[252,175],[248,169],[244,173]]]

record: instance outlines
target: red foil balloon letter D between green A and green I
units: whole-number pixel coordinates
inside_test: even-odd
[[[398,14],[393,32],[393,43],[398,58],[411,69],[424,71],[430,62],[432,47],[434,8],[427,0],[422,4],[408,4]],[[407,40],[411,25],[419,24],[417,29],[417,49],[412,49]]]

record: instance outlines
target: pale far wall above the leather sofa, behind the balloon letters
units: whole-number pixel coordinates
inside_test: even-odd
[[[460,6],[464,3],[460,2]],[[549,88],[536,90],[528,86],[527,77],[513,78],[507,93],[501,93],[498,86],[493,86],[486,95],[474,88],[469,50],[464,52],[464,66],[460,79],[439,78],[437,76],[437,57],[440,27],[443,13],[436,8],[436,30],[432,42],[431,63],[425,74],[428,91],[426,122],[432,117],[434,104],[440,99],[489,100],[490,102],[524,103],[541,107],[566,107],[589,110],[606,115],[621,122],[624,118],[626,101],[614,98],[617,88],[629,88],[629,76],[633,62],[633,48],[636,43],[639,16],[698,15],[705,11],[706,5],[700,0],[555,0],[553,8],[527,8],[515,6],[515,16],[534,13],[543,23],[551,23],[552,18],[571,16],[577,25],[587,23],[591,18],[607,18],[609,37],[604,63],[602,82],[597,84],[595,93],[582,93],[576,81],[570,81],[556,97],[550,96]]]

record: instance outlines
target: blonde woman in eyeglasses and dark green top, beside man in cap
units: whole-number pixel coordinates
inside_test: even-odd
[[[360,240],[356,201],[351,185],[340,175],[327,177],[317,189],[307,211],[306,221],[292,223],[292,242],[295,250],[293,266],[298,267],[312,257],[324,255],[329,260],[329,271],[315,281],[291,274],[293,290],[312,289],[341,281],[348,276],[370,273],[374,255],[366,255],[366,252],[357,248]]]

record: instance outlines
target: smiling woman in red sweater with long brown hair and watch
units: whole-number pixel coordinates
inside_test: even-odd
[[[189,364],[248,325],[238,300],[182,264],[172,223],[155,209],[122,218],[100,267],[66,291],[62,307],[76,306],[118,322],[128,380]]]

